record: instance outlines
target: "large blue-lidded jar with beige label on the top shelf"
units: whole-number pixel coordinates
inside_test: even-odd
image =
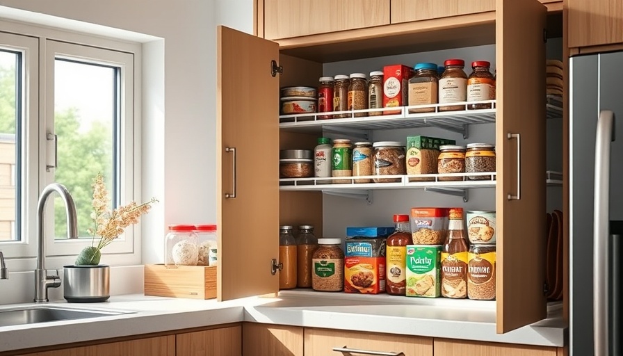
[[[414,67],[415,75],[409,79],[409,106],[437,104],[437,65],[418,63]],[[434,113],[435,108],[410,108],[409,113]]]

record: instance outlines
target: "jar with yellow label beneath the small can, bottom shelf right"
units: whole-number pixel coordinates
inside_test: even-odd
[[[467,298],[495,299],[495,245],[471,245],[467,261]]]

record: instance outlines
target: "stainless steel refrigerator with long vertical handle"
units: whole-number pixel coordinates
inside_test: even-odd
[[[569,61],[569,350],[620,356],[623,52]]]

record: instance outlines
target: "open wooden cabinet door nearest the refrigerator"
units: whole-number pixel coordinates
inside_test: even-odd
[[[545,318],[545,41],[537,0],[496,2],[496,327]]]

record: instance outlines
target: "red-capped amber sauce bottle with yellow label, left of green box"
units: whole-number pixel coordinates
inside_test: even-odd
[[[394,234],[387,238],[386,287],[387,294],[407,295],[407,245],[412,245],[411,224],[408,215],[394,215]]]

